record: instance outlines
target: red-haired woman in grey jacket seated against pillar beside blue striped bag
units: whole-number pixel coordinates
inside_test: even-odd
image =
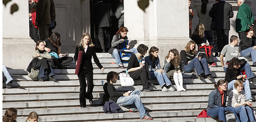
[[[128,33],[128,29],[126,27],[121,27],[117,31],[116,35],[113,36],[113,39],[111,42],[111,48],[108,50],[112,58],[116,59],[118,68],[124,68],[120,59],[119,50],[126,48],[127,50],[129,50],[130,52],[133,52],[134,54],[138,53],[136,48],[130,49],[129,43],[127,43],[127,39],[128,39],[128,37],[126,36],[127,33]]]

